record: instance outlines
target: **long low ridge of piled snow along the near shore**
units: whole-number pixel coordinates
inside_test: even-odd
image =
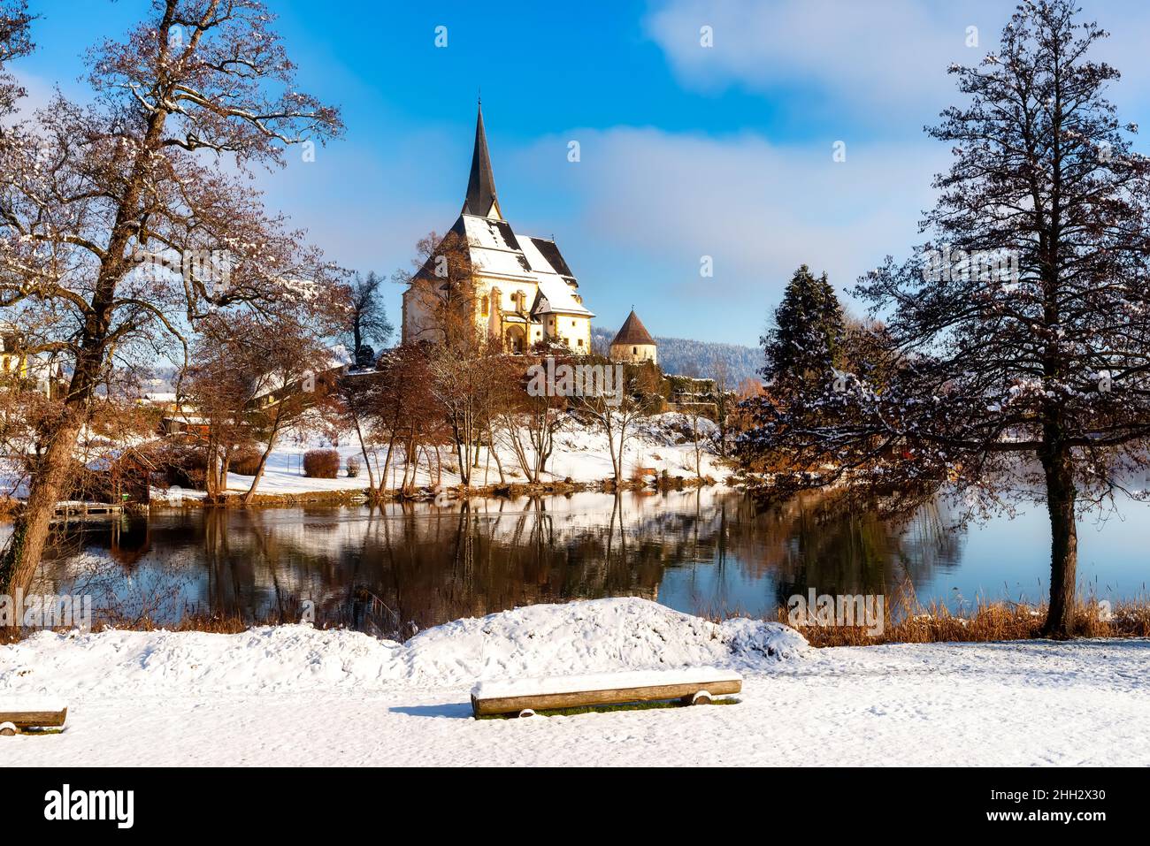
[[[45,631],[0,647],[0,705],[28,695],[370,693],[393,682],[469,685],[703,666],[754,671],[806,648],[802,634],[780,623],[715,624],[635,598],[457,620],[406,644],[309,625],[240,634]]]

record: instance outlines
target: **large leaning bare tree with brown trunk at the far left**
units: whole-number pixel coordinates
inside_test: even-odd
[[[57,95],[5,133],[0,306],[54,326],[41,349],[66,354],[72,376],[0,559],[0,592],[34,575],[115,355],[162,333],[186,348],[186,326],[212,308],[270,312],[322,291],[319,255],[245,178],[342,129],[297,90],[273,22],[259,0],[154,0],[126,40],[91,53],[93,105]]]

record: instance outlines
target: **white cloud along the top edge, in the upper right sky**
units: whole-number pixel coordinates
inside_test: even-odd
[[[1125,71],[1120,99],[1150,92],[1143,62],[1150,9],[1083,6],[1082,20],[1112,33],[1095,55]],[[792,99],[784,105],[799,116],[838,113],[876,125],[904,114],[930,121],[954,99],[948,64],[974,64],[991,52],[1013,10],[1002,0],[668,0],[644,28],[684,85],[785,91]],[[703,25],[714,30],[713,47],[699,44]],[[968,26],[977,28],[976,47],[966,46]]]

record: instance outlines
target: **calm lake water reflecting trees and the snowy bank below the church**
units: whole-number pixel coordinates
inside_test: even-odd
[[[638,595],[684,612],[772,613],[796,592],[890,593],[951,606],[1041,599],[1045,514],[954,530],[937,506],[889,523],[827,516],[810,495],[760,510],[737,493],[576,494],[381,509],[162,510],[72,526],[45,590],[91,593],[123,617],[193,610],[316,616],[388,636],[573,598]],[[1150,506],[1080,523],[1082,589],[1121,599],[1150,578]]]

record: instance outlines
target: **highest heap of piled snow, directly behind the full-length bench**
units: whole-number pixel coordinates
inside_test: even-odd
[[[457,620],[408,640],[405,660],[411,678],[462,682],[697,666],[754,670],[807,648],[781,623],[716,624],[630,597]]]

